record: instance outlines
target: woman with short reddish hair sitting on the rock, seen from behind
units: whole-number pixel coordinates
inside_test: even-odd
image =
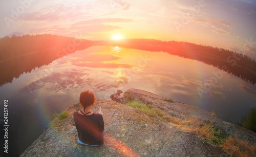
[[[87,90],[80,94],[81,110],[74,113],[75,126],[78,132],[78,143],[89,146],[103,144],[104,121],[101,114],[93,113],[95,96]]]

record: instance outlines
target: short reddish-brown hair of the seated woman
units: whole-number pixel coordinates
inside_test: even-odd
[[[83,108],[86,108],[87,106],[93,105],[94,102],[95,102],[95,96],[89,90],[83,91],[80,94],[79,99],[80,99],[80,104],[83,106]]]

